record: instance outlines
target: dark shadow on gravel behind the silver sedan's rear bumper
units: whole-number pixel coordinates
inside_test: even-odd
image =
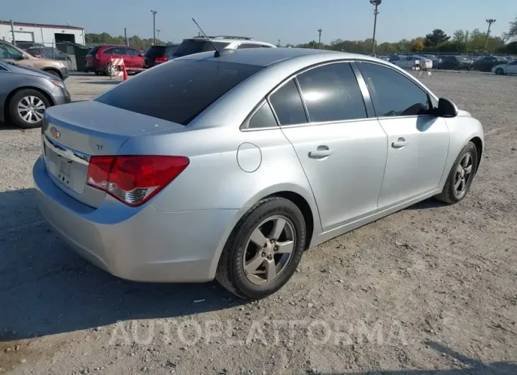
[[[0,256],[0,342],[244,303],[215,282],[130,282],[91,265],[50,229],[34,189],[0,192]]]

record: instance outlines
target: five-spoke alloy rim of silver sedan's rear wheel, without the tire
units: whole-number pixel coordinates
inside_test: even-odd
[[[287,217],[274,216],[262,221],[246,243],[244,274],[257,285],[273,282],[289,265],[295,243],[295,226]]]

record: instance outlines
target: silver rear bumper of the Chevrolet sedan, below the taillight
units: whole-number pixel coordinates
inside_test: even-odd
[[[94,209],[57,188],[42,158],[33,167],[38,206],[76,253],[111,274],[141,282],[205,282],[239,210],[165,213],[107,198]],[[229,230],[228,230],[229,229]]]

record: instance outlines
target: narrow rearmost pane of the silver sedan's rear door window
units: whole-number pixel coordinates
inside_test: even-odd
[[[294,79],[275,91],[269,97],[269,100],[273,105],[280,125],[305,124],[307,122],[302,98]]]

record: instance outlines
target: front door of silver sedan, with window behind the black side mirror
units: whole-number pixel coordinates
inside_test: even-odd
[[[449,147],[444,118],[419,83],[395,69],[358,62],[375,113],[387,134],[378,208],[388,209],[438,188]]]

